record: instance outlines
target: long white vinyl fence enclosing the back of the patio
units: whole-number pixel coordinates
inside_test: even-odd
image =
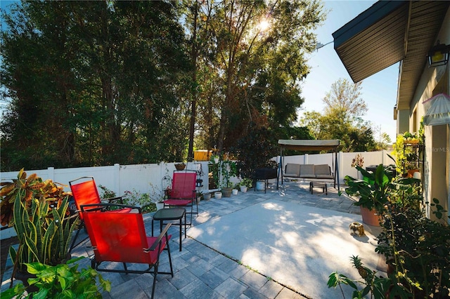
[[[387,152],[339,152],[338,166],[339,166],[339,180],[341,184],[344,182],[345,175],[357,176],[356,169],[351,167],[352,159],[360,154],[364,157],[364,168],[370,165],[392,164],[392,160],[387,157]],[[279,161],[279,157],[274,157]],[[328,164],[331,169],[334,169],[334,154],[304,154],[298,156],[285,156],[284,164]],[[285,165],[283,165],[284,167]],[[188,162],[186,169],[195,170],[200,173],[200,179],[203,180],[203,187],[199,188],[200,192],[212,192],[208,190],[208,162]],[[201,169],[201,172],[200,172]],[[83,176],[93,176],[96,180],[96,185],[108,188],[120,196],[125,191],[136,191],[139,193],[147,193],[152,199],[159,199],[162,196],[162,179],[165,175],[172,177],[175,170],[174,163],[160,163],[160,164],[137,164],[137,165],[120,165],[114,166],[98,166],[98,167],[79,167],[79,168],[63,168],[56,169],[49,167],[42,170],[27,170],[27,175],[36,173],[42,179],[51,179],[53,182],[58,182],[65,185],[65,190],[70,191],[69,181],[75,180]],[[18,171],[0,173],[0,180],[2,182],[17,178]],[[233,182],[238,182],[236,178]],[[272,180],[274,182],[275,180]],[[281,181],[280,181],[281,183]],[[98,190],[101,194],[102,190]],[[157,198],[155,198],[157,197]],[[2,230],[0,232],[0,239],[6,239],[12,235],[6,233],[10,230]]]

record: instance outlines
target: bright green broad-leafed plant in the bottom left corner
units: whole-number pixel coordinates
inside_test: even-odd
[[[27,291],[30,298],[102,298],[102,291],[111,291],[111,283],[91,267],[78,271],[76,262],[82,258],[84,257],[55,266],[26,263],[28,272],[36,276],[29,281],[31,286],[36,286],[34,291],[25,288],[23,284],[16,284],[14,288],[2,292],[0,297],[25,298]]]

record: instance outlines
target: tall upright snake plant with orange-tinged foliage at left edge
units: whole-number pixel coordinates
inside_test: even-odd
[[[58,265],[69,260],[77,221],[70,221],[69,194],[63,187],[35,173],[27,178],[23,169],[13,182],[1,185],[1,224],[13,226],[19,239],[18,249],[9,249],[13,277],[26,274],[27,263]]]

